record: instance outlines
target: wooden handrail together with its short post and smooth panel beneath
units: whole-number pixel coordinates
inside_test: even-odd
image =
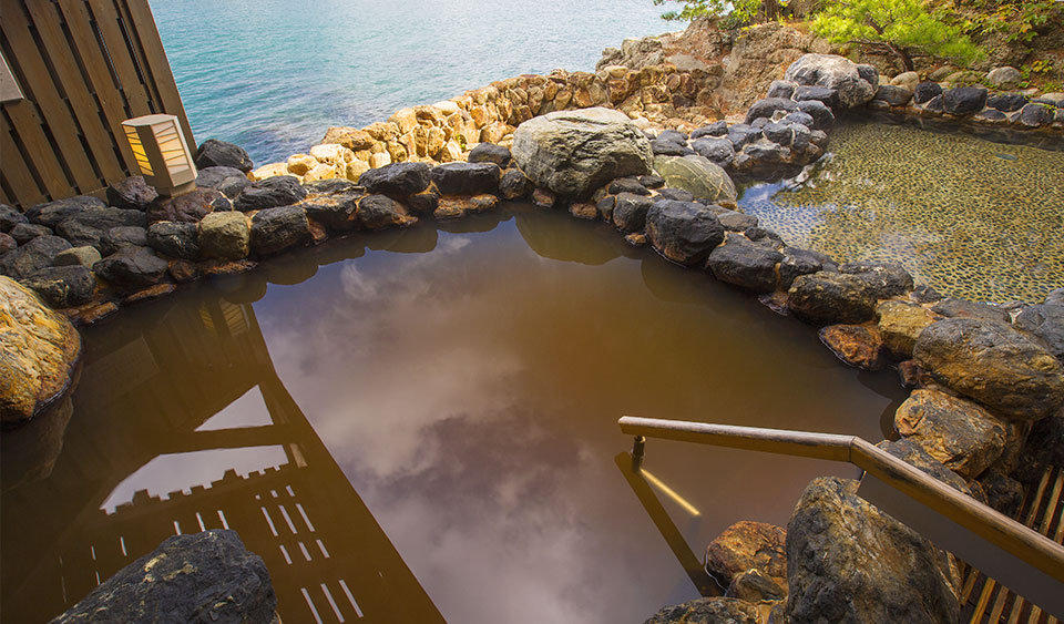
[[[1064,616],[1064,546],[962,494],[856,436],[624,417],[645,438],[846,461],[864,470],[858,494],[1017,594]]]

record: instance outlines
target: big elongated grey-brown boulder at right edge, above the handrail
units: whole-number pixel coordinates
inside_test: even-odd
[[[1016,420],[1064,405],[1064,366],[1007,325],[948,318],[917,338],[913,359],[940,382]]]

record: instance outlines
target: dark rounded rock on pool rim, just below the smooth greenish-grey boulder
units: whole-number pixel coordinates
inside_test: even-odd
[[[666,258],[694,266],[724,242],[724,226],[702,204],[662,200],[647,211],[646,235]]]

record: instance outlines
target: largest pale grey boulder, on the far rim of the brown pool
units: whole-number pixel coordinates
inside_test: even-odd
[[[651,173],[651,143],[624,113],[594,108],[533,117],[513,133],[518,167],[536,185],[585,198],[615,177]]]

